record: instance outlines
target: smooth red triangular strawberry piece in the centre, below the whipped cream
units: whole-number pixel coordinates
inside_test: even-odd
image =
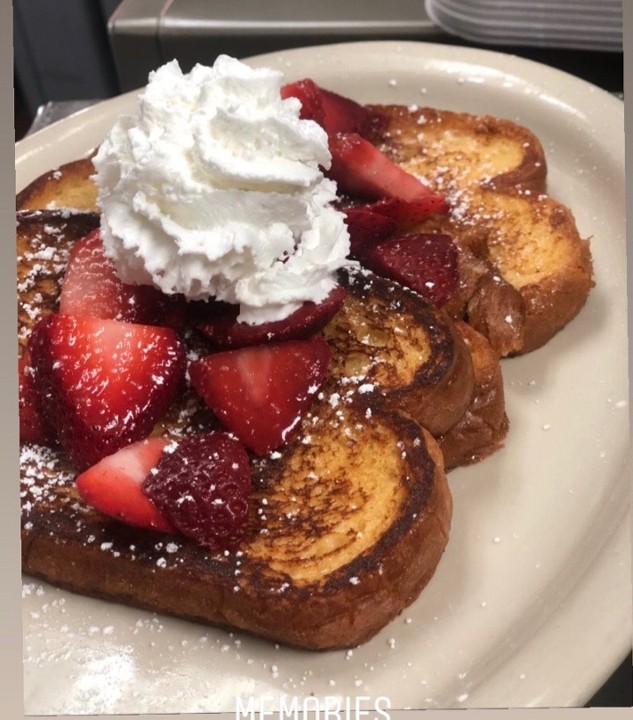
[[[317,392],[325,340],[288,340],[207,355],[189,366],[194,388],[225,427],[258,455],[280,447]]]

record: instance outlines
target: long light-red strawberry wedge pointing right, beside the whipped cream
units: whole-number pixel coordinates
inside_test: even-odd
[[[330,152],[332,165],[327,175],[336,180],[341,192],[370,200],[395,197],[407,201],[435,194],[357,133],[330,137]]]

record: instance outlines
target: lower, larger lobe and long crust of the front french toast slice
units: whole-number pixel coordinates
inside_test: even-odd
[[[108,520],[77,501],[49,456],[52,466],[26,465],[24,571],[304,648],[364,642],[418,596],[444,551],[441,453],[416,423],[382,410],[368,424],[358,408],[320,402],[306,423],[313,442],[303,433],[255,471],[237,553]]]

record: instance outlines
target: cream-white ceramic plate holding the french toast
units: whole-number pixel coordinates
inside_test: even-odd
[[[539,64],[431,44],[344,44],[251,62],[364,102],[530,127],[549,158],[550,193],[592,237],[596,287],[545,348],[504,361],[506,446],[450,475],[445,557],[372,641],[349,653],[288,650],[26,578],[27,714],[234,712],[246,695],[384,696],[397,709],[583,704],[631,644],[621,102]],[[132,106],[125,95],[19,143],[18,188],[87,152]]]

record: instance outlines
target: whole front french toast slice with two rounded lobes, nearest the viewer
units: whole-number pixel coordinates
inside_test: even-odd
[[[29,308],[19,317],[21,338],[56,309],[64,258],[94,223],[92,214],[18,214],[20,274],[33,278],[20,293]],[[342,317],[325,330],[332,372],[294,438],[279,452],[251,458],[250,520],[237,552],[213,554],[180,536],[107,518],[81,501],[76,471],[57,449],[25,444],[24,572],[310,649],[364,642],[410,604],[444,551],[452,501],[437,443],[394,409],[390,395],[409,387],[422,398],[426,387],[442,405],[434,385],[446,380],[446,404],[457,407],[457,397],[448,398],[453,386],[472,385],[470,356],[452,321],[415,294],[367,273],[345,282]],[[398,333],[398,325],[420,330]],[[379,342],[379,330],[397,341]],[[346,371],[359,345],[374,359],[364,376],[357,359],[353,374]],[[457,414],[468,401],[461,398]],[[177,440],[216,427],[189,388],[155,432]]]

